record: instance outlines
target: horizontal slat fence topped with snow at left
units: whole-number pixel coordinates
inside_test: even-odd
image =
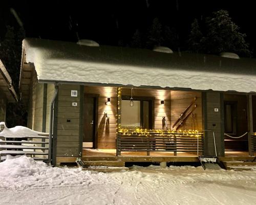
[[[0,161],[6,159],[7,154],[29,155],[34,160],[48,160],[49,134],[37,132],[27,127],[6,127],[0,123]]]

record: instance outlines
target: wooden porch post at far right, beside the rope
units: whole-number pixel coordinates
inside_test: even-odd
[[[247,95],[247,124],[248,124],[248,152],[250,156],[254,155],[253,152],[253,119],[252,119],[252,95]]]

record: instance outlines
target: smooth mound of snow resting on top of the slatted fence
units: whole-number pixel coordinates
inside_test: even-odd
[[[37,132],[23,126],[8,128],[6,127],[5,122],[0,122],[0,125],[4,125],[4,130],[0,132],[0,136],[5,138],[32,138],[33,136],[38,136],[38,134],[46,134],[44,132]]]

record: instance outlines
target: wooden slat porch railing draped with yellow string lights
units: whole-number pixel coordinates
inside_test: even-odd
[[[153,151],[192,152],[202,154],[204,138],[202,133],[189,132],[118,132],[116,138],[116,155],[122,151],[145,151],[147,155]]]

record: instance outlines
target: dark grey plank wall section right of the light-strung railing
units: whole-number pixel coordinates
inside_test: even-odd
[[[202,93],[203,125],[204,129],[215,132],[216,149],[218,156],[224,156],[224,130],[223,130],[223,94],[219,92]],[[219,111],[215,112],[214,108]],[[212,132],[205,132],[204,155],[215,156],[214,138]]]

